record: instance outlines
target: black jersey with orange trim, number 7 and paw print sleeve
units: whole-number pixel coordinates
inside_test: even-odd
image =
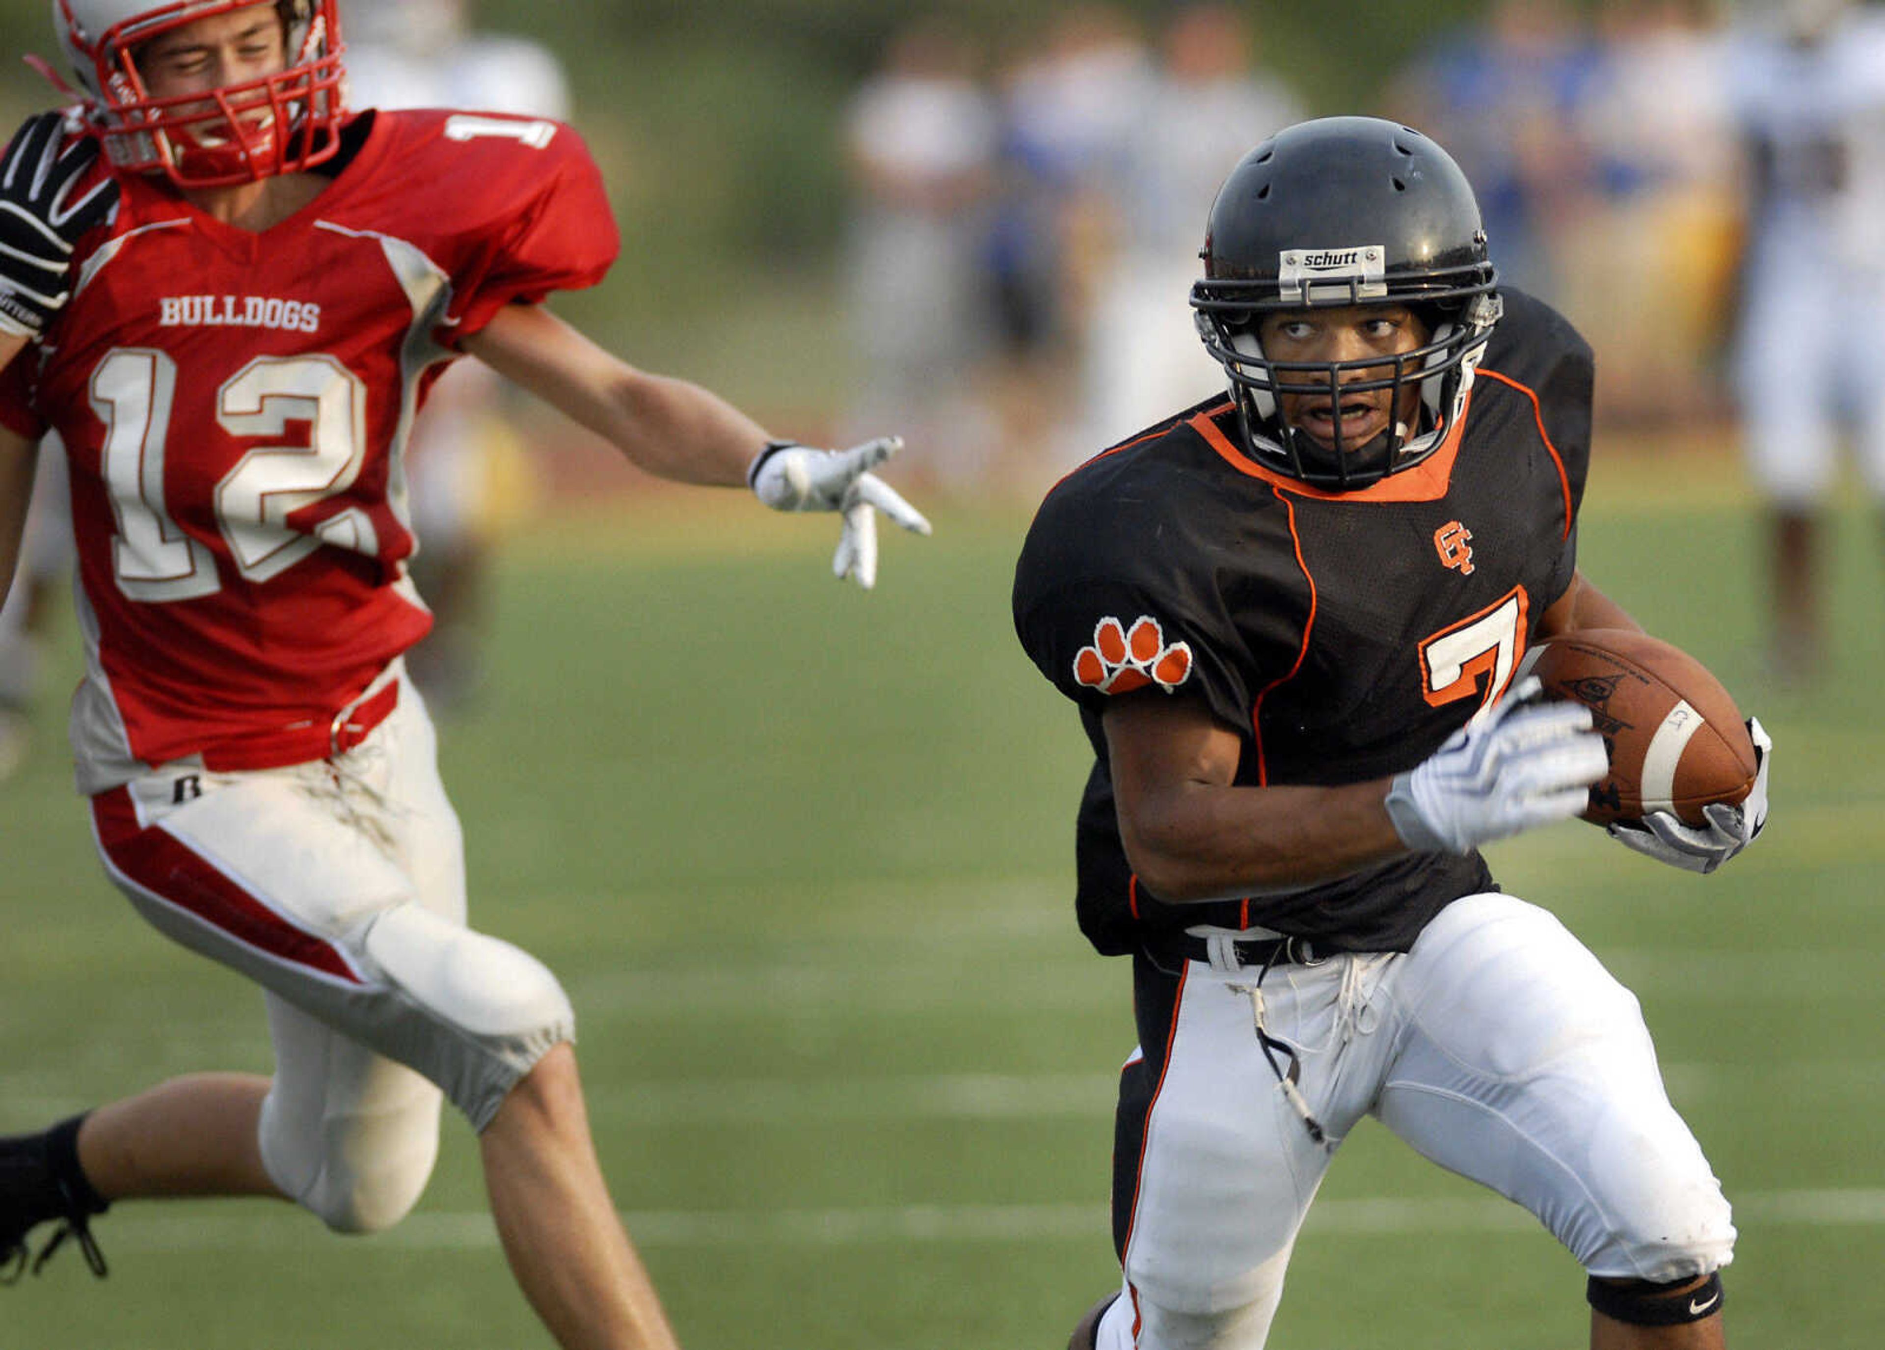
[[[1423,852],[1284,894],[1163,903],[1120,843],[1101,715],[1114,698],[1197,698],[1242,739],[1238,784],[1333,786],[1412,769],[1510,683],[1576,568],[1593,370],[1557,311],[1502,294],[1453,434],[1365,490],[1257,464],[1220,396],[1048,492],[1014,626],[1097,756],[1076,905],[1101,952],[1193,924],[1406,950],[1444,905],[1493,886],[1480,854]]]

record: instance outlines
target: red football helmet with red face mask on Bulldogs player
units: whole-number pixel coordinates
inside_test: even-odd
[[[273,0],[287,66],[222,89],[153,98],[138,53],[158,34],[270,0],[53,0],[106,158],[185,189],[254,183],[313,168],[339,149],[341,30],[336,0]]]

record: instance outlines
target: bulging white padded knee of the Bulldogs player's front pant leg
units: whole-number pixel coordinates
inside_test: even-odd
[[[362,950],[400,1003],[394,1058],[432,1078],[484,1129],[505,1095],[560,1041],[575,1039],[564,986],[535,956],[420,909],[377,914]]]

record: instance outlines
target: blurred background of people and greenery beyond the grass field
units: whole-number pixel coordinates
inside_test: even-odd
[[[49,53],[43,11],[0,0],[0,45]],[[1270,130],[1338,111],[1451,149],[1502,279],[1597,349],[1608,449],[1751,451],[1778,641],[1819,643],[1815,517],[1849,473],[1847,428],[1885,500],[1885,388],[1847,360],[1885,296],[1885,11],[1868,4],[345,0],[343,15],[356,104],[562,117],[590,140],[626,247],[605,287],[558,300],[579,324],[795,434],[901,432],[893,473],[933,503],[1033,500],[1208,396],[1221,371],[1186,292],[1216,187]],[[55,98],[11,64],[8,124]],[[637,481],[475,375],[441,390],[415,475],[445,701],[475,686],[488,545],[571,485]],[[0,722],[34,683],[21,632],[70,568],[57,524],[36,528],[0,620]]]

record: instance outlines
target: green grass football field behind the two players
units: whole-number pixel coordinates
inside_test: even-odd
[[[1740,1346],[1885,1327],[1885,658],[1876,539],[1842,519],[1834,679],[1762,686],[1730,488],[1600,479],[1585,569],[1778,741],[1774,824],[1710,879],[1587,826],[1500,847],[1508,890],[1631,982],[1736,1201]],[[1116,1280],[1123,963],[1073,928],[1073,713],[1014,643],[1018,509],[886,539],[833,584],[828,522],[656,496],[505,556],[488,694],[447,728],[473,914],[582,1024],[603,1161],[692,1350],[1054,1350]],[[66,624],[70,639],[70,624]],[[66,660],[62,673],[72,675]],[[177,1071],[266,1071],[258,997],[104,882],[62,700],[0,786],[0,1131]],[[0,1350],[547,1346],[460,1122],[420,1209],[336,1239],[264,1203],[123,1207],[0,1290]],[[1363,1128],[1297,1248],[1278,1350],[1583,1344],[1576,1265],[1527,1216]]]

